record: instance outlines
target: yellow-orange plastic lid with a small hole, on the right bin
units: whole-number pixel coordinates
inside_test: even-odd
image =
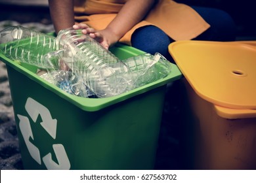
[[[177,41],[169,52],[195,92],[220,114],[256,116],[256,41]]]

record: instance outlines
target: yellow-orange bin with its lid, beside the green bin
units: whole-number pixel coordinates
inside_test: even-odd
[[[256,169],[256,41],[177,41],[189,169]],[[186,131],[185,131],[186,130]]]

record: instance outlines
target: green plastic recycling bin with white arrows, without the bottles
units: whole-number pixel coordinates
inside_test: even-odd
[[[117,58],[142,54],[111,49]],[[130,92],[102,99],[70,95],[40,78],[37,68],[0,54],[7,65],[24,169],[154,169],[171,73]]]

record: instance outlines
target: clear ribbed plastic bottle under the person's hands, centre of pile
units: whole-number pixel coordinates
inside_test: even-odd
[[[58,49],[68,50],[68,66],[97,97],[112,97],[133,88],[130,70],[123,61],[81,31],[64,29],[56,37]]]

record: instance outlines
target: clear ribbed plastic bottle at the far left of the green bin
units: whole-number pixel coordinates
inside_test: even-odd
[[[42,59],[56,50],[55,38],[20,25],[0,31],[0,49],[7,56],[41,68],[51,67]]]

